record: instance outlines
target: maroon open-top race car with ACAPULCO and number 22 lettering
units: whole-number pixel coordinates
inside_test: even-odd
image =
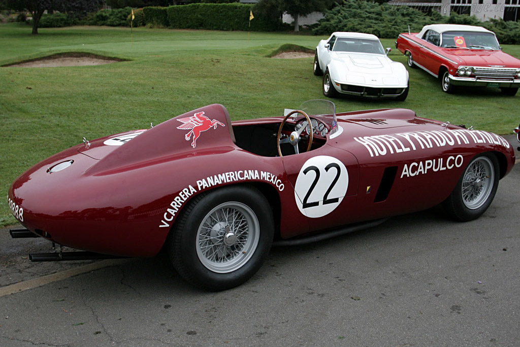
[[[153,256],[191,284],[223,290],[294,245],[442,203],[469,221],[514,165],[501,136],[411,110],[335,113],[327,100],[285,117],[230,121],[222,105],[110,135],[32,166],[8,191],[27,229],[87,252],[33,261]]]

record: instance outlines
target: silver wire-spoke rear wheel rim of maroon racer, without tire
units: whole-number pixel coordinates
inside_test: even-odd
[[[216,273],[235,271],[249,261],[259,239],[258,219],[247,205],[225,202],[211,210],[197,232],[197,256]]]

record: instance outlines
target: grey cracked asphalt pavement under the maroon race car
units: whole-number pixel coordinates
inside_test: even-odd
[[[517,347],[519,182],[517,164],[476,221],[433,208],[273,248],[251,280],[217,293],[187,285],[165,254],[30,263],[50,243],[2,229],[0,290],[15,291],[0,294],[0,345]]]

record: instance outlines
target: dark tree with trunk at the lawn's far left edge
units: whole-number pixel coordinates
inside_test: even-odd
[[[33,34],[38,33],[38,23],[45,10],[61,12],[97,11],[102,0],[5,0],[7,8],[17,11],[29,11],[33,17]]]

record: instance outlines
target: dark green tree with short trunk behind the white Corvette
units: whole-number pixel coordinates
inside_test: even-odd
[[[294,18],[294,31],[300,31],[300,16],[318,11],[322,12],[334,3],[334,0],[260,0],[258,5],[263,8],[277,8],[281,12],[287,12]]]

